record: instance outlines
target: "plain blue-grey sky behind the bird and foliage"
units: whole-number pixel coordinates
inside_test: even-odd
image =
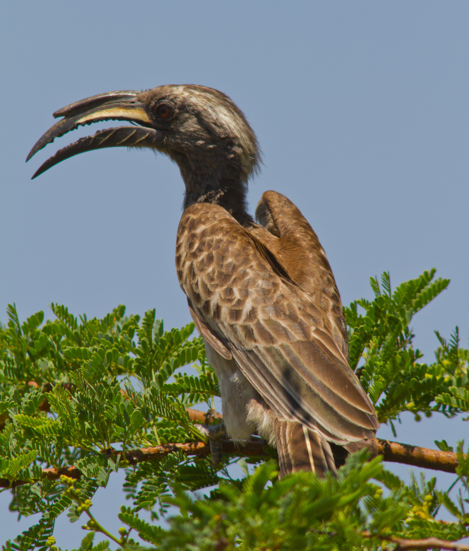
[[[112,90],[195,83],[228,94],[263,150],[250,182],[254,210],[276,190],[302,210],[328,254],[343,304],[372,298],[368,278],[394,287],[437,268],[448,290],[413,320],[433,361],[458,325],[467,347],[469,3],[3,2],[0,18],[0,320],[67,305],[75,315],[118,304],[156,307],[166,328],[190,321],[174,269],[183,183],[176,165],[123,148],[75,156],[30,177],[58,147],[112,122],[57,139],[27,165],[52,112]],[[121,124],[121,123],[118,123]],[[403,417],[397,440],[469,440],[469,423]],[[379,437],[391,437],[383,426]],[[406,475],[407,467],[386,467]],[[437,475],[441,487],[454,477]],[[100,490],[102,493],[102,490]],[[0,496],[0,543],[19,525]],[[117,532],[123,495],[94,513]],[[77,522],[58,544],[78,547]]]

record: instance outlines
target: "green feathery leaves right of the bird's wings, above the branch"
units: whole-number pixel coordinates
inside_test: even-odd
[[[345,308],[349,326],[350,365],[377,409],[380,423],[398,419],[405,411],[416,420],[440,412],[450,417],[469,408],[468,353],[459,348],[459,330],[441,346],[432,364],[420,363],[412,345],[412,316],[448,287],[448,279],[433,279],[435,269],[399,285],[391,293],[388,273],[370,278],[375,299],[352,302]],[[360,313],[359,307],[364,310]]]

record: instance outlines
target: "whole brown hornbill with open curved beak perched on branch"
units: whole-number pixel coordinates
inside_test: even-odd
[[[246,208],[259,148],[241,110],[220,91],[166,85],[116,91],[56,111],[63,117],[28,155],[80,125],[119,126],[80,138],[33,178],[78,153],[146,147],[165,153],[186,185],[176,268],[190,315],[220,381],[227,434],[276,445],[280,476],[336,472],[348,452],[373,453],[374,407],[348,365],[339,291],[317,235],[299,209],[265,192],[259,223]]]

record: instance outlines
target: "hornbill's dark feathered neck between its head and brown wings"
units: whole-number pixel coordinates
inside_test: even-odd
[[[179,164],[181,176],[186,185],[184,209],[194,203],[212,203],[226,209],[239,224],[250,226],[254,219],[247,212],[246,184],[233,167],[222,170],[220,164],[197,169]]]

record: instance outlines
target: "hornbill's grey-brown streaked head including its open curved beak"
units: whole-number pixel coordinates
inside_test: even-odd
[[[198,85],[165,85],[146,91],[92,96],[56,111],[63,117],[37,141],[26,161],[55,138],[92,122],[129,121],[80,138],[43,163],[33,178],[64,159],[105,147],[146,147],[165,153],[181,169],[186,202],[217,202],[217,194],[246,186],[258,169],[252,128],[228,96]]]

